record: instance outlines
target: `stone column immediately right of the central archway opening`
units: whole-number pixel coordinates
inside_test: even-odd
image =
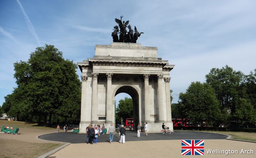
[[[149,76],[150,74],[143,74],[144,77],[144,108],[145,108],[145,122],[150,122],[149,111]]]

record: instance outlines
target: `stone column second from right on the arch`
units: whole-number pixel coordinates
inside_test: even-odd
[[[159,110],[159,122],[164,122],[164,105],[162,96],[162,77],[163,74],[157,74],[158,77],[158,110]]]

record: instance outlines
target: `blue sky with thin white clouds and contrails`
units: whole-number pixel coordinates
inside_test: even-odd
[[[213,67],[256,69],[255,8],[254,0],[0,0],[0,105],[16,87],[14,62],[44,44],[74,62],[92,58],[95,44],[110,45],[121,15],[144,32],[138,43],[158,47],[159,58],[176,65],[170,88],[177,103]]]

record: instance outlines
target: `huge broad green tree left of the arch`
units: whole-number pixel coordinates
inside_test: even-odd
[[[14,63],[18,96],[22,97],[18,110],[30,115],[43,116],[44,125],[51,122],[52,114],[64,117],[78,115],[80,111],[80,80],[77,65],[65,60],[53,45],[37,47],[28,61]],[[10,108],[11,109],[11,108]]]

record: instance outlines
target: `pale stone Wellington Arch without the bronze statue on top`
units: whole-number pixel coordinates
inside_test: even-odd
[[[82,72],[80,133],[88,124],[115,122],[119,93],[133,99],[134,125],[148,122],[149,132],[159,132],[164,122],[173,131],[170,102],[170,71],[174,65],[158,58],[156,47],[137,43],[95,45],[94,58],[78,62]]]

